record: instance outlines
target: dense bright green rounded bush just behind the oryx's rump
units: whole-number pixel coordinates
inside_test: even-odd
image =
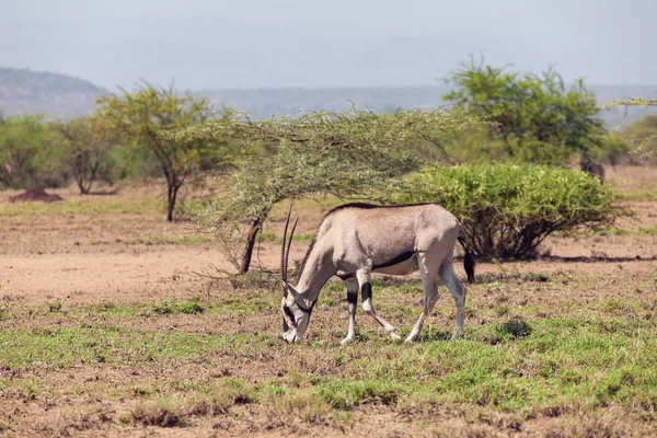
[[[530,164],[424,169],[394,200],[440,204],[465,228],[462,243],[484,260],[531,258],[551,233],[611,226],[631,215],[597,178]]]

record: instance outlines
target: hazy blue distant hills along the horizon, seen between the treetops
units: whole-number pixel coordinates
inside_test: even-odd
[[[655,99],[657,85],[589,85],[598,102],[607,103],[622,97]],[[293,115],[299,111],[344,111],[353,103],[369,106],[373,111],[394,108],[427,108],[442,105],[447,92],[442,84],[419,87],[354,87],[325,89],[253,89],[206,90],[195,92],[208,97],[216,106],[222,105],[249,111],[255,118],[272,114]],[[74,117],[93,110],[95,99],[105,90],[82,79],[28,69],[0,68],[0,111],[7,115],[47,113],[50,117]],[[631,108],[626,123],[657,108]],[[623,118],[623,111],[608,110],[601,113],[607,126],[614,127]]]

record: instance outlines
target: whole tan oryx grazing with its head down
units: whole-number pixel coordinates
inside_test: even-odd
[[[439,277],[457,302],[454,337],[463,334],[465,287],[452,267],[454,244],[462,227],[445,208],[435,204],[396,207],[347,204],[333,209],[324,216],[308,249],[297,286],[287,281],[289,250],[297,227],[295,221],[286,247],[289,221],[288,214],[280,261],[283,337],[288,343],[301,342],[320,289],[334,275],[347,284],[349,328],[342,343],[351,341],[355,335],[358,290],[362,310],[394,339],[399,339],[394,327],[379,316],[372,307],[372,272],[407,275],[419,270],[425,304],[406,342],[417,337],[438,301]]]

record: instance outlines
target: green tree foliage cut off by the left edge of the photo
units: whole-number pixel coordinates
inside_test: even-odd
[[[0,184],[39,185],[54,141],[42,115],[0,118]]]

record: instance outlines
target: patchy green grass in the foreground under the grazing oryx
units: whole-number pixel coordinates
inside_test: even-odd
[[[567,286],[562,283],[566,279]],[[280,318],[272,313],[279,296],[255,290],[221,299],[103,302],[70,309],[65,302],[55,313],[42,304],[33,318],[53,319],[51,326],[43,322],[35,327],[14,326],[26,318],[25,309],[15,307],[10,318],[20,319],[2,322],[0,368],[32,380],[3,378],[0,393],[10,399],[53,397],[49,370],[125,367],[145,379],[127,379],[123,384],[76,382],[69,391],[99,400],[131,401],[117,419],[136,426],[189,426],[205,417],[234,418],[246,411],[268,413],[280,424],[296,420],[304,425],[345,424],[357,412],[411,415],[419,420],[422,415],[445,410],[469,413],[470,420],[483,415],[510,417],[521,424],[544,415],[610,407],[654,420],[657,323],[652,299],[646,301],[645,293],[631,291],[591,301],[573,302],[569,296],[527,306],[514,301],[515,291],[527,287],[561,288],[569,293],[567,288],[579,290],[590,281],[586,276],[569,278],[567,273],[551,275],[548,280],[509,274],[496,283],[473,285],[465,336],[459,341],[449,341],[453,301],[441,289],[438,308],[420,341],[413,344],[391,341],[359,313],[356,341],[341,346],[346,302],[339,281],[323,290],[309,337],[301,345],[280,339]],[[654,276],[646,276],[645,281],[653,285]],[[378,309],[391,321],[404,321],[397,324],[400,334],[407,334],[419,314],[422,291],[417,286],[377,278]],[[500,312],[500,307],[506,310]],[[251,321],[257,321],[261,328],[240,330],[239,334],[181,333],[176,327],[185,324],[174,324],[174,316],[198,318],[199,324],[221,327],[238,321],[238,314],[263,314],[263,310],[268,319],[265,324],[243,319],[242,328]],[[84,312],[89,313],[84,316]],[[59,325],[78,318],[83,318],[84,324]],[[130,318],[171,318],[172,327],[128,328],[134,325],[123,320]],[[166,369],[164,378],[145,371],[153,366]],[[208,372],[203,377],[188,372],[200,370],[197,367]],[[254,406],[239,408],[244,404]]]

